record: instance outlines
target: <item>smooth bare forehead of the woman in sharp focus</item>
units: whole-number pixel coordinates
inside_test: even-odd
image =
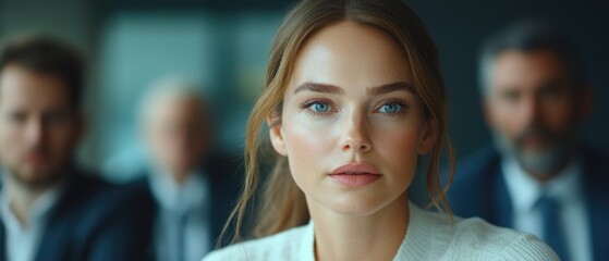
[[[300,50],[290,88],[306,83],[372,87],[412,83],[402,48],[387,33],[354,22],[340,22],[316,33]]]

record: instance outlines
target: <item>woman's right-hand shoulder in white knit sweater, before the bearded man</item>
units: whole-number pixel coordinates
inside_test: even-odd
[[[411,204],[412,206],[412,204]],[[560,260],[539,238],[509,228],[491,225],[478,217],[453,217],[412,206],[411,245],[405,248],[434,260]],[[411,229],[412,228],[412,229]],[[414,244],[413,244],[414,243]]]

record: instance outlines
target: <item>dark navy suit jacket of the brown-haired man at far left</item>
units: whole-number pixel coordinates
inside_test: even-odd
[[[37,261],[139,260],[130,228],[126,192],[82,171],[66,177],[65,190],[42,232]],[[1,222],[0,222],[1,223]],[[0,225],[0,261],[7,260],[5,228]]]

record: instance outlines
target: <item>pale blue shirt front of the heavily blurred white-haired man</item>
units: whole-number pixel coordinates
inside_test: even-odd
[[[210,250],[209,184],[200,174],[191,173],[178,185],[169,174],[151,172],[150,190],[158,203],[154,231],[157,260],[195,261]]]

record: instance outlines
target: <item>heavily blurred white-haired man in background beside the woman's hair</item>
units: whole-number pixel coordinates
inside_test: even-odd
[[[149,259],[198,261],[212,249],[234,206],[236,161],[210,159],[211,121],[192,84],[166,79],[142,104],[150,164],[134,190],[148,206]]]

